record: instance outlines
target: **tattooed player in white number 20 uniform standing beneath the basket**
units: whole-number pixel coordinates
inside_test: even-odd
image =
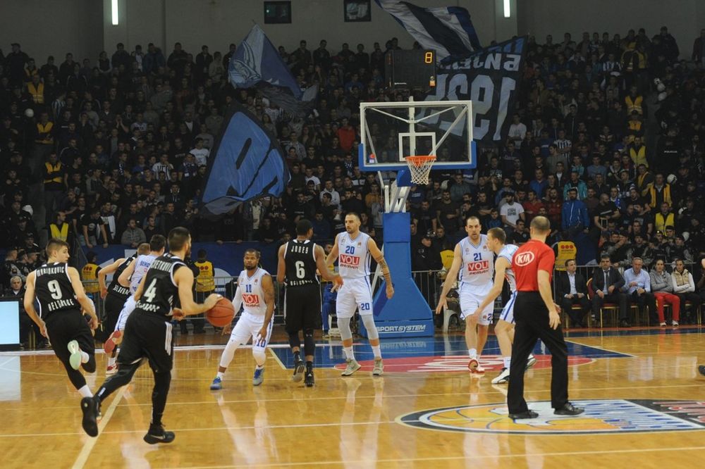
[[[369,260],[374,258],[384,274],[386,282],[386,295],[388,299],[394,296],[392,277],[389,267],[384,260],[382,251],[377,247],[374,239],[360,231],[360,215],[350,212],[345,215],[345,232],[336,235],[331,253],[326,257],[326,265],[331,265],[338,259],[338,273],[345,282],[338,289],[336,312],[338,315],[338,328],[343,339],[343,351],[347,366],[343,376],[350,376],[362,368],[355,360],[353,353],[353,331],[350,330],[350,318],[355,314],[355,309],[360,312],[360,318],[367,330],[369,344],[374,352],[373,376],[379,376],[384,370],[382,354],[379,349],[379,333],[372,317],[372,287],[369,284]]]

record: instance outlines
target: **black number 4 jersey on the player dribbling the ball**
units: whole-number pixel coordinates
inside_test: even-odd
[[[147,270],[145,287],[135,310],[154,313],[170,320],[174,300],[178,298],[178,287],[173,278],[176,270],[182,265],[186,264],[170,254],[154,259]]]

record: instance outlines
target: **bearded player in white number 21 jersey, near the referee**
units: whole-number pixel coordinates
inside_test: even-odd
[[[441,314],[448,307],[446,295],[453,286],[453,278],[459,275],[460,287],[460,318],[465,320],[465,343],[470,361],[467,368],[472,375],[482,375],[484,369],[479,365],[479,356],[487,342],[487,328],[492,323],[494,308],[489,304],[482,311],[477,307],[492,288],[494,277],[494,254],[486,246],[486,236],[481,235],[479,218],[472,216],[465,220],[467,237],[455,244],[453,264],[450,265],[446,282],[443,282],[443,292],[436,314]]]

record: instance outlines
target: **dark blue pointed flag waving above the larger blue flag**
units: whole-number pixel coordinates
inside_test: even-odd
[[[290,114],[305,117],[315,104],[309,97],[315,97],[315,93],[304,95],[274,44],[257,25],[252,27],[230,59],[228,74],[234,87],[257,87]]]

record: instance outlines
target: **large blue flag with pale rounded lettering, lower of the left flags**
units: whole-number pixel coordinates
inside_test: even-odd
[[[262,196],[278,197],[289,182],[284,152],[259,119],[233,104],[224,123],[201,191],[205,216],[223,215]]]

